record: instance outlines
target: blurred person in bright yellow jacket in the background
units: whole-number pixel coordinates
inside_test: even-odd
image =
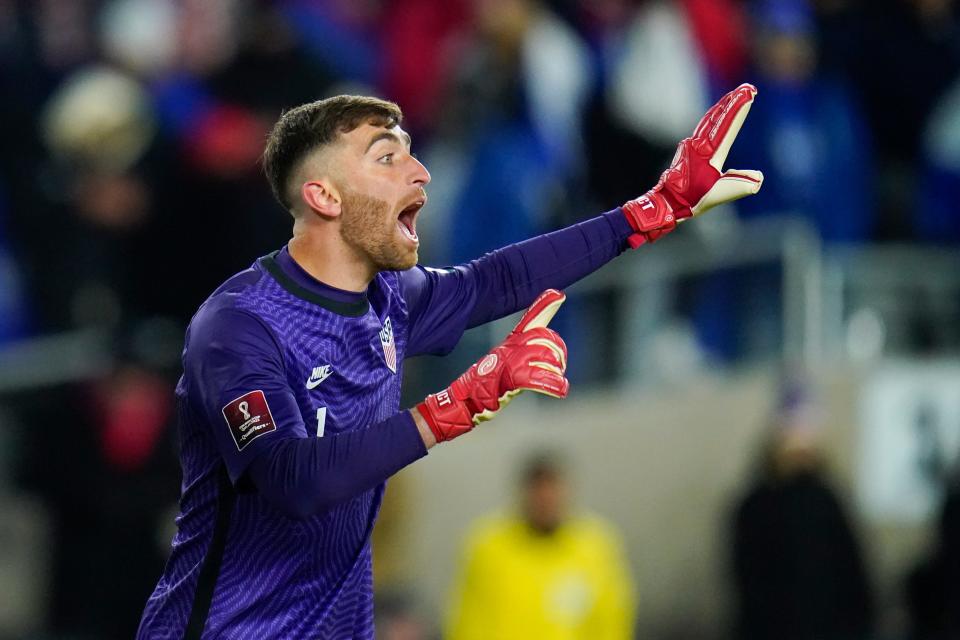
[[[466,537],[446,640],[627,640],[635,591],[620,536],[569,515],[562,465],[531,458],[519,509],[483,517]]]

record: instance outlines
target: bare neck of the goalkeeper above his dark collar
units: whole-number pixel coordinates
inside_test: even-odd
[[[376,268],[340,237],[338,229],[306,228],[294,224],[287,245],[290,256],[320,282],[344,291],[366,291]]]

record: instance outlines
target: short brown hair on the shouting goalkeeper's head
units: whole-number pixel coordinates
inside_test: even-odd
[[[362,124],[390,128],[402,119],[396,104],[369,96],[333,96],[290,109],[273,125],[263,152],[263,168],[274,197],[292,210],[287,182],[307,154]]]

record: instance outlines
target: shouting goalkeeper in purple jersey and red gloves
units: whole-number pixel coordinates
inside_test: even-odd
[[[444,270],[417,266],[430,174],[395,104],[337,96],[284,114],[264,166],[293,237],[187,329],[178,528],[138,637],[372,638],[386,479],[521,391],[567,395],[566,348],[547,327],[555,289],[756,193],[758,172],[723,170],[755,93],[724,96],[636,200]],[[448,388],[399,409],[405,358],[524,307]]]

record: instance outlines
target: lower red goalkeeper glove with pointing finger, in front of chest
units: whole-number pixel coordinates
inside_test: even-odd
[[[565,398],[570,383],[567,346],[547,328],[566,296],[547,289],[523,314],[507,339],[440,393],[427,396],[417,410],[437,442],[452,440],[492,419],[521,391]]]

